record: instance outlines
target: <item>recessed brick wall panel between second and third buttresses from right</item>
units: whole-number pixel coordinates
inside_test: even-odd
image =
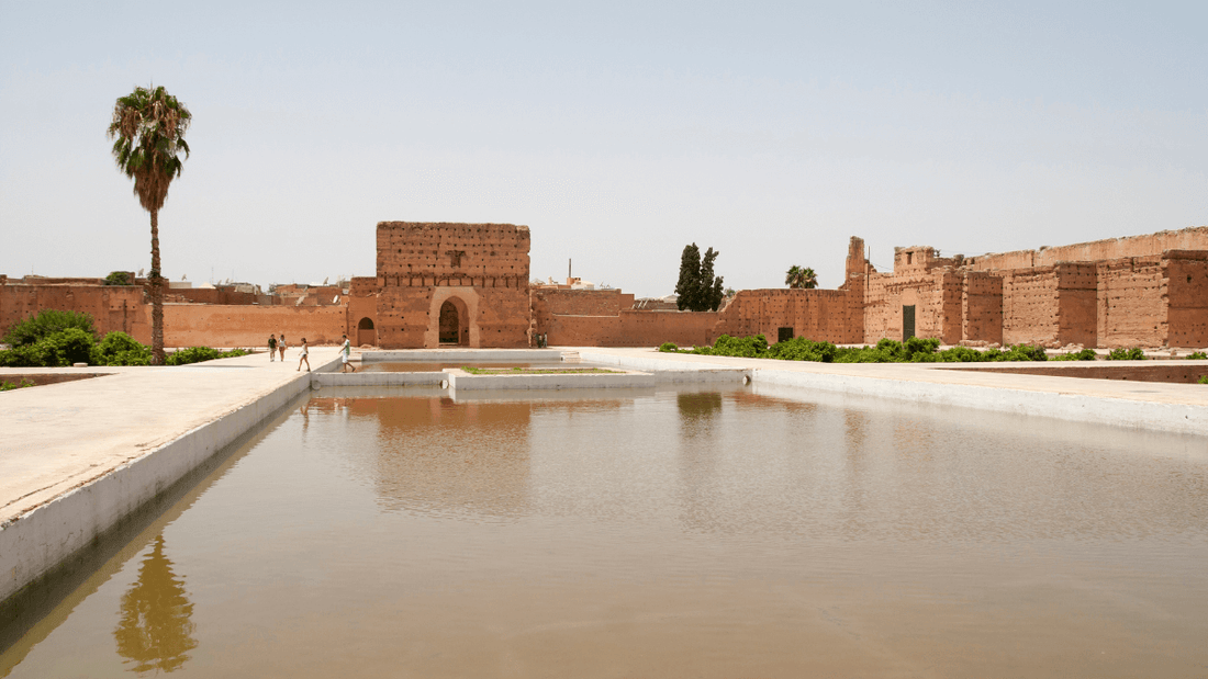
[[[1003,344],[1059,344],[1057,271],[1052,267],[1003,276]]]

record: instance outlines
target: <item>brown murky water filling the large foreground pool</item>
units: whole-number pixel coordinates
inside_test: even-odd
[[[335,393],[0,675],[1208,675],[1202,438],[766,390]]]

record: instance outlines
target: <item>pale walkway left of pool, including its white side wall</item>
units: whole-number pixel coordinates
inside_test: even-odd
[[[312,347],[314,370],[338,362]],[[104,376],[0,392],[0,601],[68,558],[295,396],[297,352],[181,367],[0,369]],[[13,380],[8,380],[13,381]]]

